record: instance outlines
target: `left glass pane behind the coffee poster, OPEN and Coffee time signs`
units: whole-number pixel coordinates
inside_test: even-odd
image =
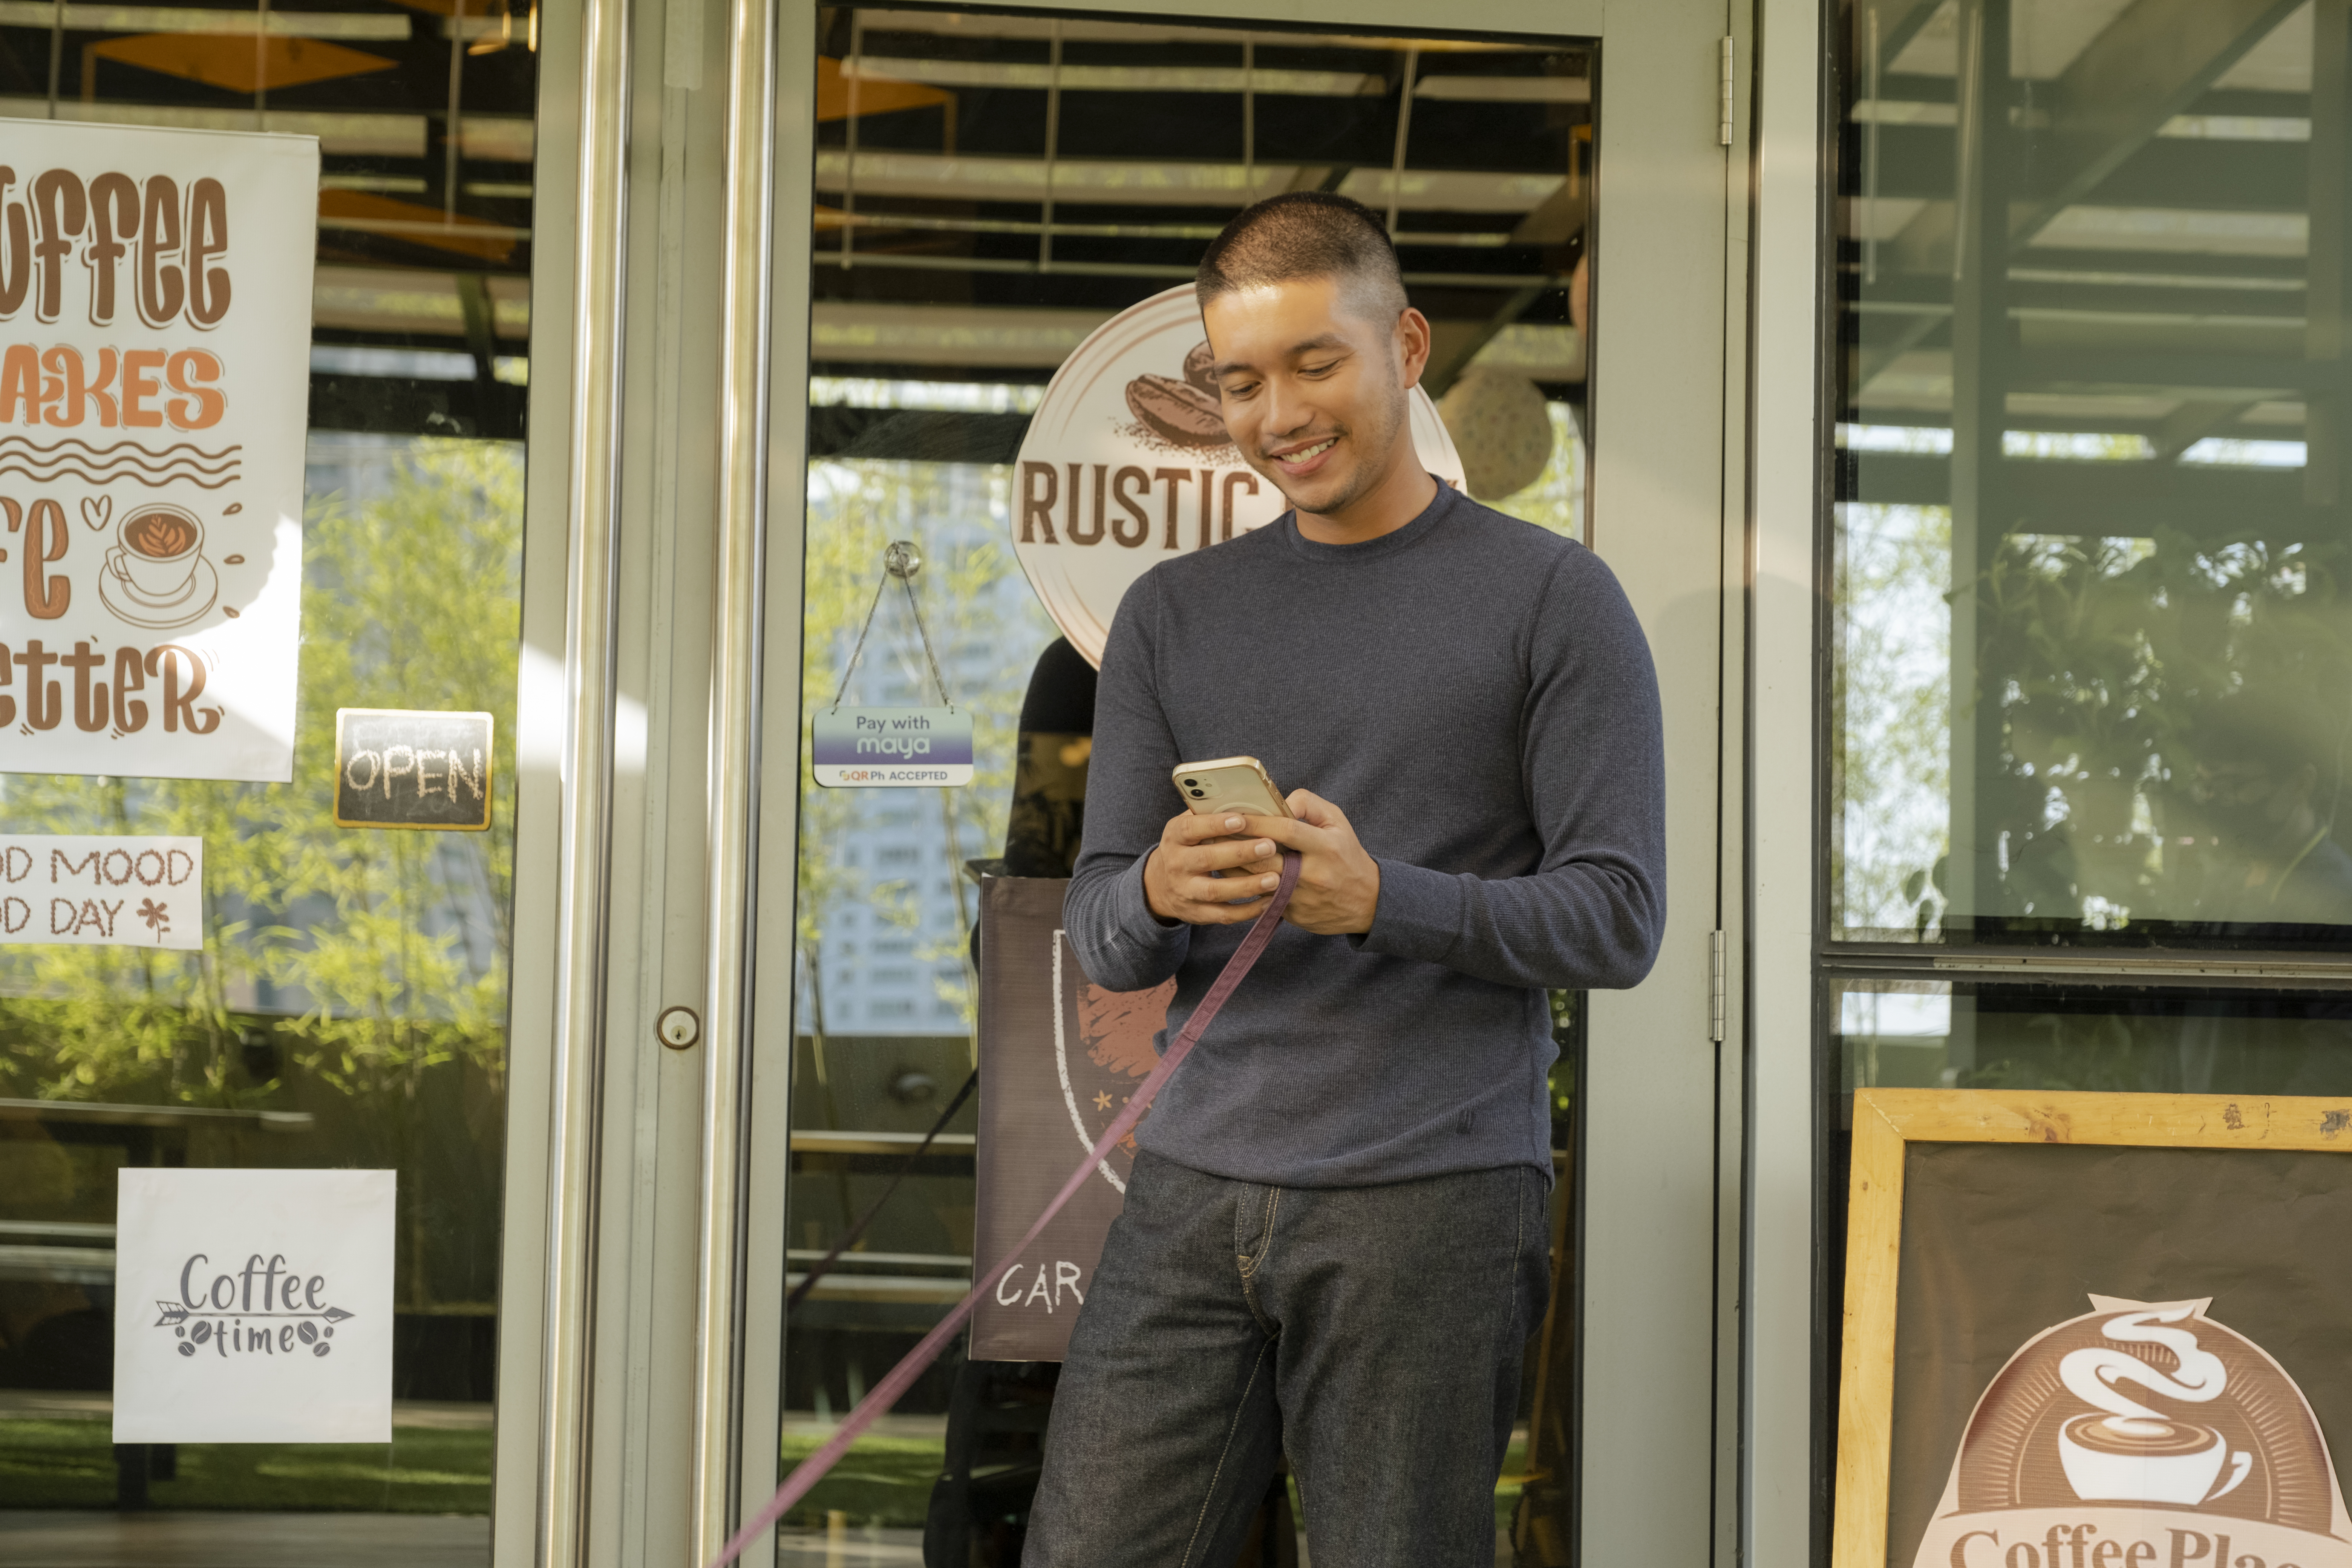
[[[209,872],[200,954],[0,947],[0,1507],[85,1509],[12,1526],[59,1561],[489,1561],[534,19],[0,9],[0,115],[322,153],[294,783],[0,773],[0,832]],[[489,830],[336,827],[339,708],[492,712]],[[397,1171],[390,1446],[111,1443],[125,1166]]]

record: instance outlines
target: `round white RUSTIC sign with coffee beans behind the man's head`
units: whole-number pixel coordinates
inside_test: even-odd
[[[1418,386],[1409,397],[1421,463],[1461,489],[1437,404]],[[1014,555],[1070,646],[1101,665],[1110,616],[1152,562],[1287,510],[1225,435],[1200,301],[1176,284],[1096,327],[1054,371],[1021,440]]]

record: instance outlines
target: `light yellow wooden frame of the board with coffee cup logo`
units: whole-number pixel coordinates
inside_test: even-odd
[[[1912,1143],[2352,1154],[2352,1110],[2343,1100],[2260,1095],[1858,1088],[1846,1208],[1832,1568],[1886,1568],[1903,1157]]]

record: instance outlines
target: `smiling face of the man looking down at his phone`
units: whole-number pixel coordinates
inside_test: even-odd
[[[1418,310],[1371,322],[1336,277],[1298,277],[1221,294],[1202,320],[1225,433],[1301,512],[1345,512],[1418,463],[1404,402],[1430,353]]]

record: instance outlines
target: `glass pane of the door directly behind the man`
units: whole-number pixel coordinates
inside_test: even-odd
[[[1251,195],[1324,188],[1376,209],[1395,197],[1406,284],[1435,322],[1428,386],[1472,494],[1581,536],[1588,477],[1585,47],[823,9],[818,56],[802,705],[842,691],[938,701],[906,597],[891,588],[873,609],[884,545],[915,541],[938,675],[976,715],[976,773],[957,790],[823,790],[804,771],[793,1286],[880,1208],[790,1307],[786,1462],[969,1288],[974,1110],[896,1190],[906,1157],[891,1140],[927,1131],[976,1058],[967,865],[1063,877],[1077,849],[1094,672],[1014,555],[1016,454],[1065,355],[1188,282]],[[1197,461],[1240,468],[1223,451]],[[1157,527],[1157,494],[1150,505]],[[1573,1001],[1557,1011],[1566,1039]],[[1562,1067],[1562,1147],[1569,1081]],[[1529,1354],[1529,1403],[1545,1361],[1566,1408],[1571,1359]],[[1018,1561],[1054,1373],[929,1373],[861,1443],[854,1474],[835,1472],[788,1521],[802,1535],[786,1554],[844,1537],[903,1552],[931,1516],[969,1535],[971,1561]],[[964,1434],[955,1453],[950,1429]],[[1508,1469],[1498,1523],[1519,1448]],[[1557,1455],[1555,1469],[1569,1474]],[[1545,1507],[1562,1512],[1552,1490]],[[964,1561],[953,1535],[946,1552]]]

